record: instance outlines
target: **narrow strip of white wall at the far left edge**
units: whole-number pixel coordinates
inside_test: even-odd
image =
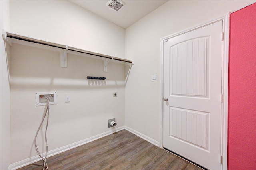
[[[0,1],[0,169],[5,170],[10,163],[10,86],[6,52],[2,39],[2,29],[9,29],[9,1]]]

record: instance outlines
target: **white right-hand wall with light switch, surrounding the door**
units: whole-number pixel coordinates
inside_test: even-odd
[[[126,54],[134,59],[125,87],[125,125],[156,140],[161,134],[160,39],[243,8],[255,1],[169,1],[126,29]],[[151,75],[158,80],[151,82]]]

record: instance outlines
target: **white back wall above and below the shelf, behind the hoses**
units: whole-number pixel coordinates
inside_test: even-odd
[[[124,57],[125,30],[69,1],[10,1],[10,31]],[[49,151],[108,132],[108,119],[116,118],[117,128],[124,126],[124,64],[109,62],[106,73],[102,60],[71,54],[67,64],[60,67],[57,51],[10,47],[10,164],[36,156],[34,136],[45,110],[36,106],[36,92],[57,92],[57,104],[50,105]],[[67,94],[70,103],[64,102]]]

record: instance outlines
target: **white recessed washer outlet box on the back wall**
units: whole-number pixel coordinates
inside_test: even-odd
[[[51,92],[37,92],[36,93],[36,106],[43,106],[47,105],[47,99],[46,97],[40,97],[40,95],[45,95],[46,97],[50,97],[50,95],[53,95],[53,97],[50,98],[49,105],[53,105],[57,103],[57,93],[56,91]]]

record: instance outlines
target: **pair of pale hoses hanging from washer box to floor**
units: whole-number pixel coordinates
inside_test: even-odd
[[[43,95],[43,97],[46,97],[45,95]],[[47,127],[48,127],[48,121],[49,121],[49,103],[50,103],[50,98],[52,97],[52,95],[50,95],[49,99],[48,97],[46,97],[47,99],[47,107],[46,107],[46,111],[45,111],[45,114],[44,114],[44,118],[42,119],[41,123],[40,123],[40,126],[38,127],[37,131],[36,131],[36,136],[35,136],[35,139],[34,139],[34,142],[35,142],[35,146],[36,146],[36,152],[38,153],[38,155],[40,156],[40,158],[44,161],[44,166],[43,166],[43,170],[47,170],[48,169],[48,165],[46,163],[46,158],[47,158],[47,153],[48,153],[48,144],[47,144],[47,136],[46,136],[46,133],[47,133]],[[45,128],[45,145],[46,145],[46,154],[45,154],[45,158],[40,154],[38,148],[39,146],[37,146],[36,144],[36,138],[37,138],[37,135],[38,135],[38,132],[40,130],[40,128],[42,127],[42,124],[44,122],[44,119],[45,119],[45,116],[47,114],[47,122],[46,122],[46,128]]]

